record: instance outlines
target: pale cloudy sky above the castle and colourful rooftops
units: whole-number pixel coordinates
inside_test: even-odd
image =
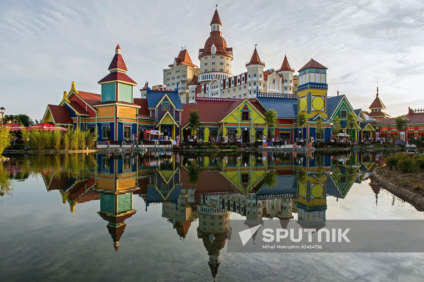
[[[0,106],[41,119],[71,82],[100,94],[117,44],[139,86],[162,83],[162,70],[186,46],[192,61],[209,36],[218,4],[233,74],[254,44],[265,68],[284,54],[296,71],[310,58],[328,68],[329,96],[354,108],[379,97],[391,116],[424,108],[424,1],[13,1],[0,2]],[[139,97],[136,86],[134,97]]]

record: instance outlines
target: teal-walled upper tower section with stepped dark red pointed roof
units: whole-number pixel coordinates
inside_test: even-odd
[[[133,103],[133,86],[137,83],[128,75],[127,66],[121,56],[121,48],[118,46],[115,55],[109,65],[109,75],[103,77],[98,83],[101,85],[101,102],[128,102]]]

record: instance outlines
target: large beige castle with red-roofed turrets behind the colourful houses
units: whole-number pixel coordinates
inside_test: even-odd
[[[245,64],[246,72],[234,75],[231,69],[233,49],[227,46],[222,36],[222,22],[217,10],[210,28],[210,36],[198,52],[199,67],[192,63],[187,50],[182,50],[170,68],[163,70],[163,83],[167,88],[174,89],[178,83],[182,103],[195,103],[195,97],[255,98],[257,92],[276,96],[295,94],[294,69],[286,56],[279,69],[265,69],[265,62],[260,60],[255,47],[250,61]]]

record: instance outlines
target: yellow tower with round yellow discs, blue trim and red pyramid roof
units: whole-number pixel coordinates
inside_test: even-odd
[[[327,68],[311,60],[299,69],[298,111],[307,111],[308,118],[318,113],[327,118]]]

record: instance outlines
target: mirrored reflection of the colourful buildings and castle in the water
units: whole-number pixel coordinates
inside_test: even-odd
[[[242,216],[246,227],[276,218],[283,228],[297,213],[301,227],[319,229],[325,226],[326,198],[345,198],[354,182],[367,179],[378,166],[375,155],[366,153],[226,153],[98,153],[79,157],[82,163],[64,162],[73,168],[62,165],[43,179],[47,190],[59,190],[70,212],[81,203],[100,200],[98,214],[107,222],[116,251],[126,219],[136,213],[134,195],[143,198],[146,211],[162,205],[162,217],[181,240],[197,221],[197,237],[215,277],[220,250],[231,239],[231,213]],[[374,182],[370,186],[377,197]]]

